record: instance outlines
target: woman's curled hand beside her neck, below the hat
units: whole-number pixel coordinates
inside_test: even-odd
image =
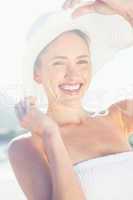
[[[32,133],[44,138],[59,133],[57,123],[37,108],[35,97],[26,97],[15,105],[15,110],[20,125]]]

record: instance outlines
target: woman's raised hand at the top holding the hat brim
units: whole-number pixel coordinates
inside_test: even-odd
[[[63,8],[68,9],[77,6],[82,1],[66,0]],[[97,12],[105,15],[118,14],[133,24],[133,0],[96,0],[88,1],[85,4],[79,4],[74,10],[73,16],[81,16],[84,14]]]

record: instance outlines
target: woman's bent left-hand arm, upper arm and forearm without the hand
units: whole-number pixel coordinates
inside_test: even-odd
[[[49,141],[47,154],[49,164],[28,137],[9,145],[9,160],[27,200],[84,200],[62,140]]]

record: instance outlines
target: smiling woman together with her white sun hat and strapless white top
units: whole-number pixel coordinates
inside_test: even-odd
[[[111,22],[118,25],[115,35]],[[16,113],[30,133],[9,146],[10,162],[28,199],[125,200],[127,194],[132,199],[128,136],[133,114],[121,112],[119,102],[92,117],[81,104],[96,71],[131,45],[132,34],[119,16],[73,19],[71,11],[60,11],[35,23],[28,37],[26,70],[28,81],[34,80],[46,93],[48,110],[40,111],[33,97],[20,101]]]

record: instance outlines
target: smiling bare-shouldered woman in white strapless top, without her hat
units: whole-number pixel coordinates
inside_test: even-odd
[[[102,12],[112,9],[131,22],[123,1],[97,2]],[[127,5],[133,8],[131,1]],[[16,105],[21,126],[31,134],[10,144],[9,158],[27,199],[132,199],[133,102],[113,104],[108,115],[95,118],[82,108],[92,76],[88,44],[79,31],[67,31],[36,57],[34,80],[48,96],[46,114],[33,97]]]

